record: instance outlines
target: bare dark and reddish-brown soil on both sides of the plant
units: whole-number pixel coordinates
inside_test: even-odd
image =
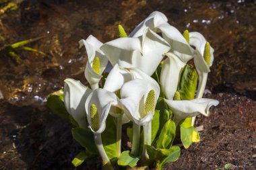
[[[216,169],[231,163],[232,169],[255,169],[256,101],[227,91],[205,97],[220,105],[209,118],[197,118],[201,142],[183,148],[178,161],[165,168]],[[1,101],[0,114],[0,169],[74,169],[70,161],[82,148],[72,139],[71,125],[45,106],[21,108]],[[100,169],[96,161],[78,169]]]

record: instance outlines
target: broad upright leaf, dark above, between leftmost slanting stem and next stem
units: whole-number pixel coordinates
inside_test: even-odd
[[[102,132],[101,136],[102,144],[108,158],[111,160],[118,157],[116,141],[117,127],[113,116],[108,116],[108,118],[106,118],[106,129]]]

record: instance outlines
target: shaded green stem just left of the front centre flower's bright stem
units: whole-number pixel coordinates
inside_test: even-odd
[[[131,147],[131,154],[134,156],[137,156],[139,152],[139,136],[140,126],[133,122],[133,146]]]

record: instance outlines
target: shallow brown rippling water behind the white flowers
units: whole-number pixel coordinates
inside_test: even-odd
[[[0,89],[5,99],[20,105],[44,103],[48,93],[63,88],[67,77],[85,83],[86,54],[77,42],[90,34],[102,42],[117,38],[118,24],[131,32],[155,10],[165,13],[181,32],[201,32],[212,44],[210,89],[230,84],[255,90],[255,1],[20,1],[18,9],[0,16],[1,44],[46,36],[28,44],[46,56],[19,51],[19,63],[1,52]]]

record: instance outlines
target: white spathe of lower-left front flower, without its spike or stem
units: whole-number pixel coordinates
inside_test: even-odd
[[[90,109],[92,104],[96,105],[99,118],[99,128],[96,132],[92,129],[90,115]],[[108,114],[112,114],[112,116],[117,116],[117,114],[121,114],[117,113],[118,111],[115,109],[112,109],[110,112],[111,107],[122,108],[121,103],[119,103],[119,98],[117,97],[117,95],[115,95],[115,93],[100,88],[95,89],[94,91],[92,91],[92,93],[90,93],[90,95],[86,99],[85,108],[87,120],[89,123],[88,127],[92,130],[92,132],[96,134],[101,134],[105,130],[106,118],[108,117]]]

